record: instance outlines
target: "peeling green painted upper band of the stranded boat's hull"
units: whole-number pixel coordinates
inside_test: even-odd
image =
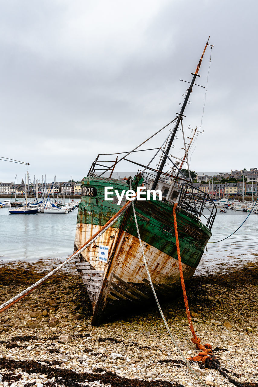
[[[82,187],[96,187],[97,195],[94,198],[82,196],[77,223],[104,226],[119,211],[122,205],[118,206],[114,202],[104,201],[104,187],[108,185],[113,186],[120,194],[123,189],[128,190],[129,188],[126,182],[123,183],[115,179],[84,178]],[[173,205],[168,202],[153,200],[152,197],[150,199],[150,201],[135,201],[137,222],[142,241],[177,259]],[[121,204],[125,204],[125,201]],[[88,213],[89,209],[92,214]],[[176,214],[182,262],[197,267],[207,241],[212,234],[204,225],[200,229],[198,220],[179,207],[176,209]],[[122,218],[118,219],[113,227],[119,228],[121,221]],[[129,223],[123,226],[123,229],[137,237],[133,215],[130,217]]]

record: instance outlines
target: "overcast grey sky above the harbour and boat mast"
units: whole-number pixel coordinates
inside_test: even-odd
[[[0,1],[0,156],[33,179],[81,180],[98,153],[128,151],[173,120],[210,35],[191,170],[258,167],[255,1]],[[196,83],[206,86],[207,48]],[[200,128],[205,90],[183,120]],[[168,129],[147,143],[160,146]],[[182,157],[181,132],[172,154]],[[153,151],[131,159],[147,163]],[[0,181],[26,166],[0,161]],[[121,164],[117,171],[132,171]],[[137,170],[137,167],[135,167]]]

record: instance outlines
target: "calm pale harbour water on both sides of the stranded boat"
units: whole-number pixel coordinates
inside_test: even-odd
[[[248,214],[241,211],[218,211],[212,241],[231,234]],[[8,208],[0,209],[0,257],[7,260],[35,260],[39,257],[65,258],[73,253],[77,209],[68,214],[10,215]],[[223,263],[243,264],[256,260],[258,253],[258,214],[248,217],[230,238],[208,244],[197,272],[221,269]]]

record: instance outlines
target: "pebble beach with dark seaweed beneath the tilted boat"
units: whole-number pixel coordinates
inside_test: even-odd
[[[187,286],[193,325],[212,345],[224,375],[192,362],[207,385],[258,386],[258,264],[198,274]],[[60,263],[0,262],[0,303]],[[162,303],[185,358],[191,342],[183,296]],[[199,386],[169,337],[155,305],[99,327],[75,268],[61,271],[0,315],[0,386]],[[225,373],[228,377],[225,377]]]

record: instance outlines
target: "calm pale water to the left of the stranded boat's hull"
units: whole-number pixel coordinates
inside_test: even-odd
[[[8,207],[0,208],[0,259],[34,260],[71,255],[77,211],[10,215]]]

